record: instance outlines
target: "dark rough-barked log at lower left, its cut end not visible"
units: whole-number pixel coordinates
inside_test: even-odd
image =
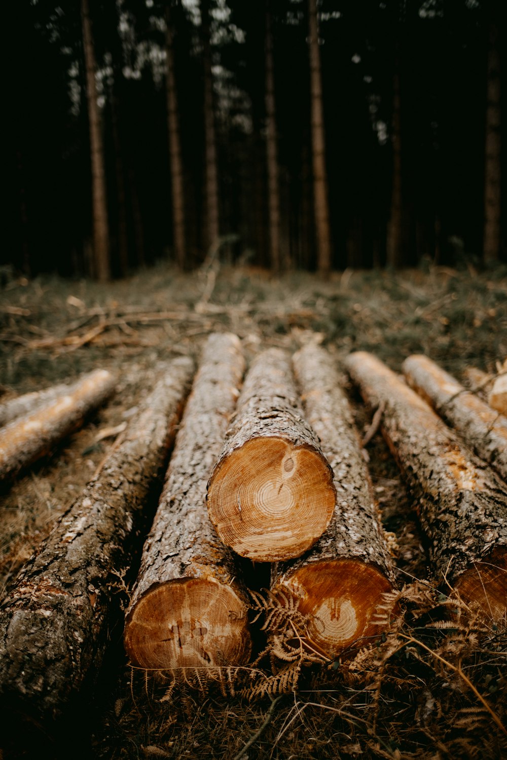
[[[117,586],[163,477],[191,359],[171,362],[125,437],[21,570],[0,606],[0,695],[49,721],[93,686],[121,618]],[[84,693],[83,693],[84,692]]]

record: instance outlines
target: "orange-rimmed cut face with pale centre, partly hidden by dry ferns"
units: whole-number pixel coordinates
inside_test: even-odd
[[[327,657],[360,647],[379,636],[375,620],[382,594],[391,583],[373,565],[353,559],[313,562],[284,578],[280,588],[299,598],[298,610],[309,616],[307,644]]]

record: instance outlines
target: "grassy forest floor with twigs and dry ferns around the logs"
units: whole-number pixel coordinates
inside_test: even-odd
[[[4,274],[0,401],[98,367],[119,381],[106,407],[0,495],[0,596],[106,456],[116,429],[151,387],[157,362],[197,358],[211,331],[238,334],[247,358],[269,346],[296,350],[317,334],[338,366],[350,351],[368,350],[399,371],[410,353],[426,353],[458,378],[466,366],[494,372],[507,355],[505,268],[347,270],[322,281],[217,265],[191,276],[159,264],[108,285]],[[345,376],[344,387],[364,432],[369,413]],[[201,690],[176,684],[171,693],[168,682],[141,678],[125,663],[119,625],[111,667],[87,715],[73,721],[81,735],[68,753],[78,756],[79,745],[84,758],[111,760],[507,754],[505,626],[459,610],[449,628],[414,502],[381,435],[367,457],[385,527],[399,545],[400,615],[388,635],[352,662],[303,667],[295,692],[274,688],[251,699],[239,676]],[[258,587],[265,584],[260,569]],[[5,758],[35,756],[30,752],[21,737]]]

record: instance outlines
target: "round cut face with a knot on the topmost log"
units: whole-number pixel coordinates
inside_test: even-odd
[[[220,539],[259,562],[303,554],[328,527],[334,500],[322,455],[278,437],[251,439],[232,451],[208,489]]]

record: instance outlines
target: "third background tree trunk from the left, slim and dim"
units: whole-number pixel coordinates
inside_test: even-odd
[[[209,0],[201,0],[202,59],[204,66],[204,141],[205,141],[205,208],[208,253],[218,245],[220,214],[218,207],[217,146],[215,141],[213,74],[211,72]]]

